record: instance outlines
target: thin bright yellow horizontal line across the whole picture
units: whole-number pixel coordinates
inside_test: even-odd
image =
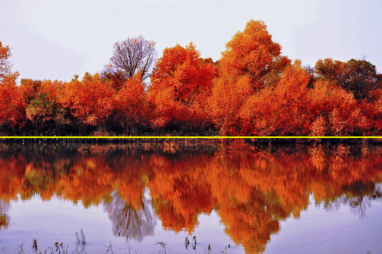
[[[242,138],[254,138],[254,139],[332,139],[332,138],[342,138],[342,139],[353,139],[353,138],[382,138],[382,136],[0,136],[0,138],[10,138],[10,139],[32,139],[32,138],[72,138],[72,139],[148,139],[148,138],[181,138],[181,139],[242,139]]]

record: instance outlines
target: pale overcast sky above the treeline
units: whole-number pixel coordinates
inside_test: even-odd
[[[283,55],[363,58],[382,72],[382,1],[9,1],[0,0],[0,41],[21,78],[70,80],[102,70],[118,40],[142,34],[163,49],[194,42],[220,58],[250,19],[263,20]]]

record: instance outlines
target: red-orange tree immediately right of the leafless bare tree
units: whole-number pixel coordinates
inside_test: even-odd
[[[192,42],[163,50],[155,63],[149,93],[157,107],[157,119],[172,121],[177,128],[203,128],[206,124],[207,96],[217,66],[211,58],[200,58]],[[163,124],[163,122],[160,122]]]

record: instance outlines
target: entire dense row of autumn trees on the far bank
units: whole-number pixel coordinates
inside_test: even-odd
[[[363,60],[301,66],[251,20],[214,62],[192,43],[167,48],[142,36],[114,45],[99,74],[70,82],[21,79],[0,42],[3,135],[382,134],[382,74]]]

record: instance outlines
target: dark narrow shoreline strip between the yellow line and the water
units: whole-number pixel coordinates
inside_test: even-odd
[[[278,145],[293,145],[293,146],[311,146],[314,144],[321,144],[325,146],[335,145],[381,145],[382,138],[350,138],[350,137],[327,137],[327,138],[290,138],[290,137],[264,137],[264,138],[250,138],[250,137],[178,137],[178,136],[162,136],[162,137],[6,137],[0,138],[2,144],[12,143],[78,143],[78,144],[131,144],[131,143],[156,143],[164,144],[165,146],[176,145],[198,145],[209,146],[226,144],[233,147],[233,149],[251,149],[252,147],[265,147],[265,146],[278,146]]]

